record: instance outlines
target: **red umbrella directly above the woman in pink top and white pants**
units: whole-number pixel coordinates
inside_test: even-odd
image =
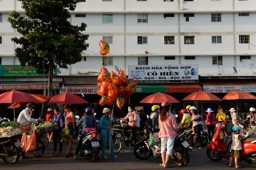
[[[146,98],[144,98],[140,103],[162,103],[164,101],[169,101],[170,103],[180,103],[178,100],[176,100],[174,97],[164,94],[164,93],[154,93]]]

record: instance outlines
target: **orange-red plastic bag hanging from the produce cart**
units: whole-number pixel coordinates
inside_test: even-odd
[[[36,149],[36,132],[34,131],[32,135],[23,133],[20,143],[25,152],[33,152]]]

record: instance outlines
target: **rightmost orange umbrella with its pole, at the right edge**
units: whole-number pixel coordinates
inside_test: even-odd
[[[236,100],[236,111],[238,112],[238,100],[252,100],[252,99],[256,99],[256,96],[248,93],[248,92],[244,92],[244,91],[240,91],[240,90],[233,90],[232,92],[228,92],[228,94],[226,94],[222,100]]]

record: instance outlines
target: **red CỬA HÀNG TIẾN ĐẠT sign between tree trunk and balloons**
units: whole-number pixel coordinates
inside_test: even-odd
[[[83,86],[64,86],[60,88],[60,93],[72,94],[97,94],[97,87],[83,87]]]

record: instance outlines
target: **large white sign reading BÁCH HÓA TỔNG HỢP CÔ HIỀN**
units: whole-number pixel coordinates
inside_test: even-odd
[[[128,78],[138,83],[198,82],[198,64],[129,65]]]

